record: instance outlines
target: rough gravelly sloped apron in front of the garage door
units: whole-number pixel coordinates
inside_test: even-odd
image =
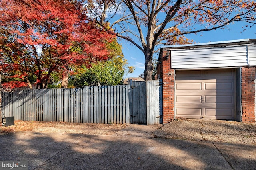
[[[256,125],[235,121],[177,119],[155,131],[154,137],[256,144]]]

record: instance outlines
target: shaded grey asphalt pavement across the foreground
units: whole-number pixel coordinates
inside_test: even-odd
[[[159,128],[130,125],[112,136],[9,133],[0,136],[0,160],[28,161],[36,170],[256,169],[256,144],[153,137]]]

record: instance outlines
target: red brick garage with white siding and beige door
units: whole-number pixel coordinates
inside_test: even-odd
[[[256,122],[256,39],[161,47],[163,123],[177,117]]]

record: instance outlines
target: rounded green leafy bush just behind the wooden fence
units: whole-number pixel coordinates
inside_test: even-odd
[[[74,78],[74,86],[82,88],[84,86],[113,86],[122,84],[124,70],[120,70],[111,61],[93,63],[84,73],[78,74]]]

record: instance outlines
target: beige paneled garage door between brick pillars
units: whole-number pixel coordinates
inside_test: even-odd
[[[234,69],[176,71],[175,85],[176,116],[234,120]]]

